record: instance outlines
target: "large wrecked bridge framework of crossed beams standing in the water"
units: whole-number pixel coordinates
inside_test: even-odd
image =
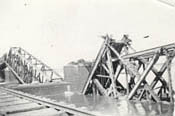
[[[119,42],[108,35],[103,38],[83,94],[173,103],[171,62],[175,56],[174,43],[136,52],[127,35]],[[159,69],[157,64],[160,62],[164,63]],[[165,72],[167,78],[164,78]]]

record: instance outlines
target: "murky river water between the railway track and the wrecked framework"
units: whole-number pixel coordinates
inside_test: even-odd
[[[24,89],[23,89],[24,91]],[[25,91],[24,91],[25,92]],[[65,95],[64,92],[49,94],[46,90],[35,91],[31,89],[28,93],[41,94],[54,99],[60,104],[74,104],[72,107],[80,107],[89,111],[98,112],[100,116],[173,116],[174,105],[166,103],[132,102],[127,100],[111,99],[104,96],[85,96],[74,93]]]

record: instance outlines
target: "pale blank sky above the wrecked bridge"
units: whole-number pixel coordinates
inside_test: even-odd
[[[137,51],[173,43],[175,7],[158,0],[0,0],[0,55],[22,47],[60,68],[94,59],[107,33],[116,40],[128,34]]]

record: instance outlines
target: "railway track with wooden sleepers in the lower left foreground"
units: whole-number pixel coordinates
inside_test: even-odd
[[[100,116],[74,104],[0,87],[0,116]]]

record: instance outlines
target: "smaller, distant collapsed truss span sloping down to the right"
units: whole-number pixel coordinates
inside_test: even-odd
[[[20,47],[11,47],[4,60],[21,84],[62,80],[57,72]]]

